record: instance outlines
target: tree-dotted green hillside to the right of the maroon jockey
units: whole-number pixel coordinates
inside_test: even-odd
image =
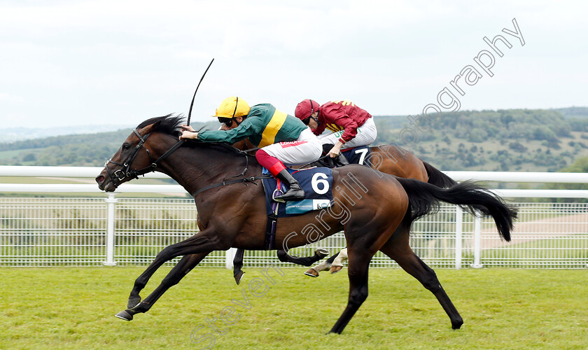
[[[376,143],[402,144],[400,132],[411,127],[418,141],[407,148],[443,170],[554,172],[588,156],[588,109],[563,110],[442,113],[418,129],[407,117],[402,126],[397,116],[376,117]]]

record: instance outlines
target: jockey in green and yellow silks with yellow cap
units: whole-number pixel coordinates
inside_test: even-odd
[[[321,142],[300,120],[278,111],[271,104],[257,104],[249,107],[244,99],[228,97],[216,109],[214,117],[231,130],[195,132],[193,127],[181,125],[180,139],[199,139],[208,142],[235,144],[248,138],[260,148],[255,153],[259,164],[288,184],[288,191],[274,197],[274,200],[303,200],[304,190],[288,172],[286,165],[302,165],[321,157]]]

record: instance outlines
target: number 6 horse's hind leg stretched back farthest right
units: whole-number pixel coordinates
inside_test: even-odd
[[[395,235],[402,235],[400,232],[395,232]],[[391,238],[384,244],[380,249],[384,254],[388,255],[391,259],[398,262],[398,265],[402,267],[408,274],[416,278],[421,284],[437,297],[441,306],[449,316],[451,320],[451,328],[459,329],[463,325],[463,319],[459,312],[455,308],[454,304],[445,293],[445,290],[441,286],[441,283],[437,279],[437,274],[428,267],[423,260],[421,260],[412,249],[408,246],[408,234],[405,235],[404,239]]]

